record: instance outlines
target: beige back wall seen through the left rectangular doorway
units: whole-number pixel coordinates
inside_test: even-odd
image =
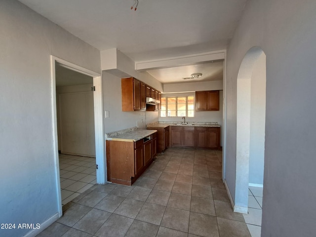
[[[62,154],[95,157],[91,86],[93,84],[56,87],[58,150]]]

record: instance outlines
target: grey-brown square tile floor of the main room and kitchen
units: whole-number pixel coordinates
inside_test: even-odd
[[[39,237],[250,237],[221,181],[222,152],[168,148],[132,185],[94,185]]]

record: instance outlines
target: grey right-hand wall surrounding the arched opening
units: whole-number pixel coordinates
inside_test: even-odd
[[[262,237],[316,233],[315,12],[315,0],[250,0],[227,51],[225,179],[233,197],[238,70],[253,46],[267,57]]]

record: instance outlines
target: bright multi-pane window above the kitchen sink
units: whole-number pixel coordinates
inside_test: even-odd
[[[161,97],[160,117],[194,117],[194,96]]]

